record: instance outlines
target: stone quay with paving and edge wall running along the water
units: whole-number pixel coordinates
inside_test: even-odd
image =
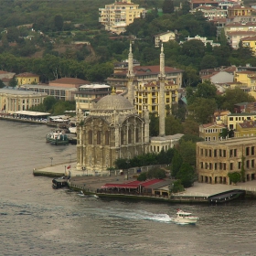
[[[66,162],[57,165],[49,165],[42,168],[37,168],[33,170],[34,176],[49,176],[49,177],[60,177],[67,176],[69,170],[66,169],[67,165],[75,166],[76,162]],[[65,167],[66,166],[66,167]],[[65,174],[66,170],[66,174]],[[120,199],[134,199],[134,200],[147,200],[147,201],[158,201],[166,203],[204,203],[209,204],[208,197],[213,195],[218,195],[223,192],[231,190],[244,190],[246,195],[245,198],[256,198],[256,180],[240,183],[236,186],[234,185],[224,185],[224,184],[205,184],[195,182],[193,187],[188,187],[185,191],[172,195],[171,197],[157,197],[157,196],[138,196],[129,194],[109,194],[109,193],[99,193],[99,189],[106,183],[124,183],[127,182],[127,178],[122,175],[112,175],[104,174],[102,176],[92,176],[86,175],[81,171],[77,171],[75,168],[70,168],[71,177],[68,181],[68,187],[75,191],[82,190],[84,194],[87,195],[97,195],[101,198],[120,198]],[[130,177],[129,181],[133,181],[135,178]],[[98,190],[97,190],[98,189]],[[225,201],[226,202],[226,201]],[[228,201],[227,201],[228,202]]]

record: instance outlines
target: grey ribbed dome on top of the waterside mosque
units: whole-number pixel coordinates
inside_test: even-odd
[[[123,96],[117,94],[111,94],[103,97],[98,101],[94,107],[94,110],[101,111],[122,111],[122,110],[133,110],[133,105]]]

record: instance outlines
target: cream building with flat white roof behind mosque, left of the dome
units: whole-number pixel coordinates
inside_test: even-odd
[[[96,99],[100,99],[111,93],[111,87],[107,84],[85,84],[81,85],[75,92],[76,110],[90,112],[91,105]]]

